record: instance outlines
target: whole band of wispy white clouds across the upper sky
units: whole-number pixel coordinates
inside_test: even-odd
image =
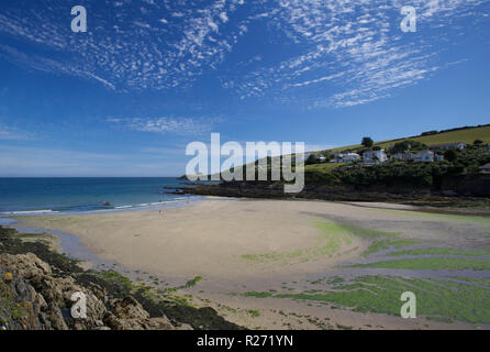
[[[0,55],[111,90],[191,88],[205,76],[242,99],[344,108],[390,97],[447,67],[441,53],[471,31],[458,20],[488,21],[490,3],[412,0],[419,31],[408,34],[400,31],[400,9],[408,4],[401,0],[98,0],[97,7],[101,2],[104,11],[86,1],[85,34],[66,25],[66,1],[3,6],[0,35],[22,45],[0,45]],[[247,35],[259,36],[261,51],[250,46],[237,63],[232,54]],[[26,43],[37,51],[26,51]],[[172,125],[171,119],[136,124],[164,131]]]

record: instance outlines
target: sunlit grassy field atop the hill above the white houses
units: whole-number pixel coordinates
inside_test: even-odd
[[[360,140],[360,138],[359,138],[359,140]],[[379,145],[383,148],[387,148],[397,142],[401,142],[401,141],[405,141],[405,140],[417,141],[417,142],[424,143],[428,146],[434,145],[434,144],[455,143],[455,142],[472,144],[475,140],[482,140],[485,143],[490,143],[490,125],[485,125],[485,127],[479,127],[479,128],[469,128],[466,130],[441,132],[438,134],[433,134],[433,135],[424,135],[424,136],[419,135],[419,136],[411,136],[411,138],[404,138],[404,139],[398,139],[398,140],[376,142],[375,145]],[[357,144],[357,145],[348,145],[348,146],[334,148],[332,151],[333,152],[342,152],[342,151],[346,151],[346,150],[355,150],[355,148],[360,148],[360,147],[363,147],[363,146],[360,144]]]

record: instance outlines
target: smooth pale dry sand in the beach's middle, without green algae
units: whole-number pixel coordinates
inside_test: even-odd
[[[312,273],[332,267],[363,250],[360,240],[341,243],[335,255],[308,263],[250,265],[243,256],[292,253],[314,248],[337,205],[312,201],[208,200],[186,208],[109,215],[32,217],[26,226],[75,234],[91,252],[124,266],[167,277],[196,275],[245,280]],[[348,213],[339,206],[338,215]],[[363,212],[361,209],[356,211]],[[274,265],[277,264],[277,265]]]

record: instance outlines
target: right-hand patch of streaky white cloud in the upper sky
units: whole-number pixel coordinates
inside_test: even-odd
[[[487,0],[415,0],[419,32],[400,30],[407,3],[381,1],[288,0],[263,13],[297,46],[298,53],[223,85],[242,98],[305,101],[310,107],[352,107],[391,96],[447,66],[439,61],[469,29],[453,24],[485,19]],[[428,38],[427,38],[428,36]],[[464,58],[464,57],[461,57]],[[313,97],[313,98],[312,98]]]

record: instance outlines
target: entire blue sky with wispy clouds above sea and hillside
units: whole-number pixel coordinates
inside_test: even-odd
[[[315,150],[489,123],[489,0],[5,0],[0,176],[181,175],[211,132]]]

